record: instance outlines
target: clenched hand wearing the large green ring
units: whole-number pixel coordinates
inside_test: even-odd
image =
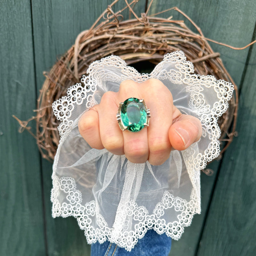
[[[122,131],[116,120],[119,102],[131,97],[144,99],[151,116],[149,126],[136,133]],[[153,165],[163,164],[172,148],[184,150],[202,134],[199,119],[181,114],[173,105],[171,92],[157,79],[140,84],[126,80],[118,92],[104,93],[100,104],[81,116],[78,129],[92,148],[106,148],[132,163],[148,160]]]

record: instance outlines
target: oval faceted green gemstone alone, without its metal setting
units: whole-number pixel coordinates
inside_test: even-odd
[[[146,106],[137,98],[125,100],[120,112],[121,122],[130,132],[139,132],[147,124]]]

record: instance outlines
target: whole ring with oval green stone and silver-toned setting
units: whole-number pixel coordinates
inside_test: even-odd
[[[122,131],[139,132],[149,125],[150,111],[144,99],[129,98],[119,103],[116,117]]]

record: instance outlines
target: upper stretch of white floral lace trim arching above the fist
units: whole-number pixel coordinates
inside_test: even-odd
[[[174,66],[167,72],[163,70],[163,67],[168,63],[173,63]],[[106,72],[104,68],[109,66],[116,70],[121,70],[123,75],[119,76],[114,72]],[[189,107],[193,109],[201,120],[203,127],[202,137],[208,137],[211,140],[204,154],[198,154],[196,157],[193,157],[194,162],[188,162],[196,165],[196,170],[201,170],[206,166],[207,162],[212,161],[219,155],[220,145],[218,139],[220,138],[220,128],[217,121],[218,117],[228,108],[228,100],[232,97],[234,86],[224,80],[216,81],[214,76],[190,74],[194,72],[194,67],[191,62],[186,61],[183,52],[176,51],[166,54],[164,60],[150,74],[140,74],[135,68],[126,66],[125,61],[118,56],[109,56],[93,62],[87,72],[89,76],[84,75],[81,79],[81,82],[84,84],[83,86],[81,83],[71,86],[67,91],[67,96],[52,104],[55,116],[58,120],[62,121],[58,126],[61,139],[74,126],[74,117],[78,117],[77,113],[79,110],[81,112],[81,105],[83,105],[82,112],[94,105],[93,94],[96,90],[100,89],[102,80],[108,79],[115,82],[116,79],[126,80],[127,77],[137,82],[143,82],[149,78],[169,79],[172,83],[184,84],[186,91],[190,92]],[[212,108],[209,104],[206,104],[205,96],[202,93],[205,88],[211,87],[218,98],[218,101],[213,104]],[[187,149],[187,151],[190,150],[190,148]]]

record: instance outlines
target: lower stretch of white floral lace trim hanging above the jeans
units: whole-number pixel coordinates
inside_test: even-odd
[[[57,199],[59,189],[65,193],[67,199],[67,202],[62,204]],[[82,205],[81,192],[76,189],[76,182],[72,177],[58,179],[55,176],[54,186],[51,191],[51,201],[52,217],[75,217],[79,227],[84,230],[88,244],[96,243],[97,241],[102,244],[108,239],[111,243],[116,243],[127,251],[131,251],[138,239],[142,238],[147,230],[152,228],[159,235],[166,233],[172,239],[178,240],[184,232],[184,227],[188,227],[191,224],[194,214],[198,211],[196,209],[197,196],[195,190],[192,190],[189,202],[178,196],[174,197],[168,191],[165,191],[162,201],[156,204],[153,214],[149,214],[144,206],[138,206],[132,200],[125,204],[122,215],[130,216],[137,222],[133,230],[121,231],[120,228],[109,228],[107,222],[99,213],[98,206],[94,200]],[[176,212],[180,212],[180,214],[177,216],[177,220],[166,223],[161,217],[166,210],[171,208]],[[118,214],[117,212],[116,219],[118,219]],[[92,226],[93,217],[97,220],[96,228]],[[120,227],[120,223],[118,223],[117,227]],[[121,225],[123,230],[128,229],[127,225],[127,223]]]

